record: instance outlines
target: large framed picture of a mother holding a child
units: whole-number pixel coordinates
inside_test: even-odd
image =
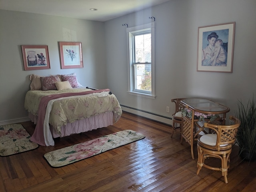
[[[197,71],[232,73],[235,22],[198,27]]]

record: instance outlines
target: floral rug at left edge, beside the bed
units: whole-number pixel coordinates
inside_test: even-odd
[[[0,126],[0,156],[9,156],[38,148],[22,124]]]

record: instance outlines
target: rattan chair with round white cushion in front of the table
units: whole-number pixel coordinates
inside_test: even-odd
[[[198,162],[197,173],[199,174],[202,167],[206,167],[211,170],[218,170],[222,172],[225,183],[228,183],[227,175],[230,163],[230,154],[232,146],[236,140],[236,134],[238,127],[240,126],[240,120],[234,116],[230,116],[230,125],[218,125],[211,122],[204,123],[204,127],[209,128],[212,134],[206,134],[198,138]],[[204,163],[204,160],[208,157],[219,158],[221,160],[221,167],[213,167]]]

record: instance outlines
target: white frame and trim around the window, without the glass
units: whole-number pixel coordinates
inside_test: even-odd
[[[151,93],[143,90],[134,89],[133,85],[133,58],[132,58],[132,32],[135,33],[139,30],[151,29]],[[126,29],[127,33],[127,50],[128,50],[128,93],[136,96],[142,96],[146,98],[155,98],[155,22],[144,24],[140,26],[134,26]]]

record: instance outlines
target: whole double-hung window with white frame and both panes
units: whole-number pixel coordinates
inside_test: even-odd
[[[154,98],[154,22],[127,28],[129,93]]]

